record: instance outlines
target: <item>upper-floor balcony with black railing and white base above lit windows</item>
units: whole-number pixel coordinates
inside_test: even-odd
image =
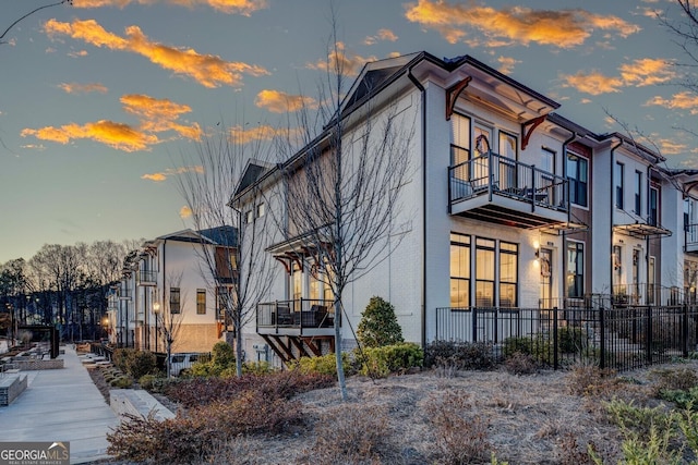
[[[448,212],[515,228],[546,228],[568,222],[567,188],[562,176],[489,152],[448,168]]]

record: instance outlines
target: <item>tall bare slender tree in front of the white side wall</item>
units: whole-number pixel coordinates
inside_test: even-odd
[[[414,121],[398,111],[396,100],[375,103],[377,94],[369,83],[360,102],[348,101],[347,60],[336,30],[333,24],[327,82],[318,99],[326,102],[318,114],[328,123],[318,137],[305,134],[305,148],[284,163],[282,172],[287,240],[297,244],[297,253],[312,262],[314,278],[334,296],[337,372],[346,400],[342,295],[348,284],[386,259],[406,232],[398,218],[400,193],[410,175]],[[312,127],[308,114],[301,113],[301,127]]]

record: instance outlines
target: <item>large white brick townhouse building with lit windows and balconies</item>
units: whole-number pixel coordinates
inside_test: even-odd
[[[557,102],[469,56],[420,52],[366,64],[345,99],[342,144],[361,138],[363,106],[380,127],[388,103],[402,121],[417,122],[400,194],[409,208],[399,220],[411,228],[342,295],[347,347],[373,295],[395,306],[406,340],[424,344],[474,331],[501,340],[513,331],[501,321],[472,327],[474,319],[453,309],[537,315],[582,305],[594,293],[613,295],[614,304],[653,304],[672,287],[695,290],[690,271],[679,271],[698,270],[696,172],[661,169],[660,155],[573,123],[554,112]],[[284,270],[243,328],[248,354],[270,348],[275,362],[288,362],[335,348],[332,295],[299,246],[306,231],[288,220],[285,197],[286,183],[302,182],[306,154],[322,152],[327,137],[241,181],[265,193],[264,209],[278,219],[267,250]],[[289,167],[301,175],[284,178]],[[256,197],[239,189],[232,201],[254,220]]]

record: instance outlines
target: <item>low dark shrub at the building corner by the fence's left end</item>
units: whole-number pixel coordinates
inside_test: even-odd
[[[424,347],[426,368],[491,369],[496,365],[494,345],[488,342],[433,341]]]

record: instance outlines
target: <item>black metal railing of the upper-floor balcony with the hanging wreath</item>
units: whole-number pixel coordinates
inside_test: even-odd
[[[453,150],[461,150],[453,147]],[[450,204],[480,195],[501,195],[553,210],[567,211],[568,182],[532,164],[489,152],[448,168]]]

